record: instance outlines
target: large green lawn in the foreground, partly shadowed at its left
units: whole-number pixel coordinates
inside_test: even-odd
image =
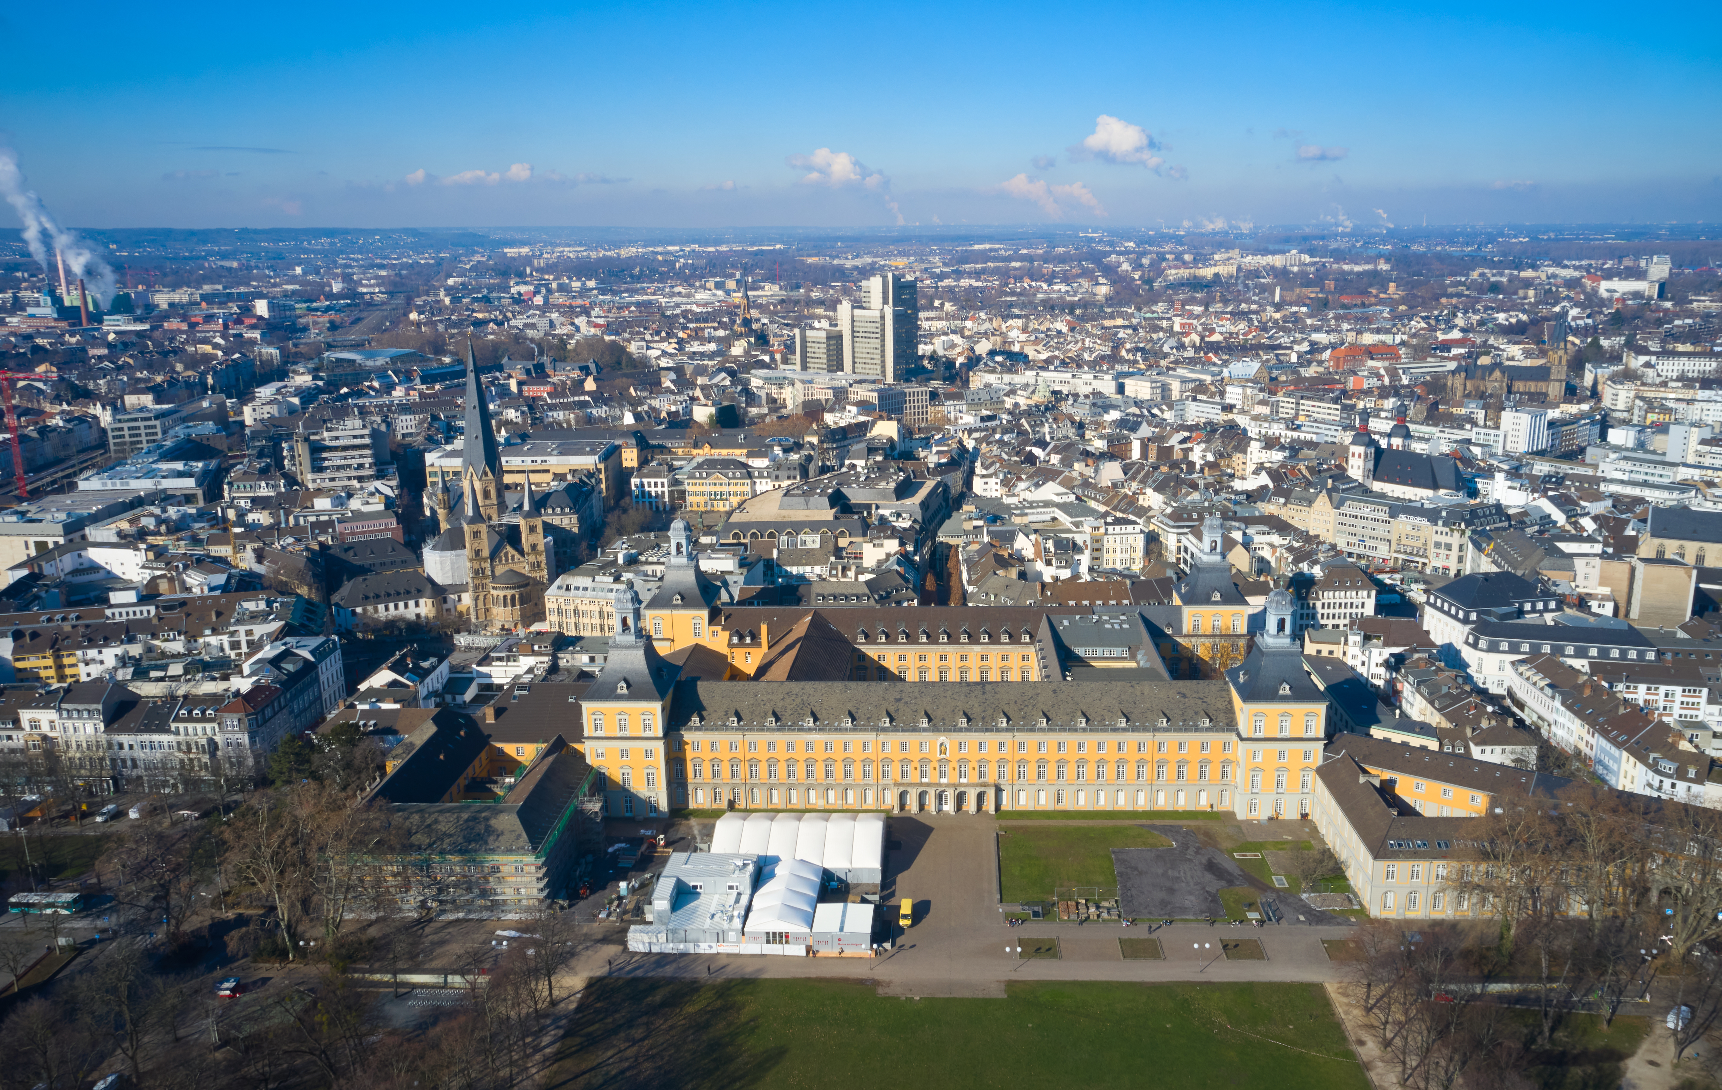
[[[842,980],[599,978],[544,1088],[1369,1087],[1317,985],[1007,988],[916,1000]]]

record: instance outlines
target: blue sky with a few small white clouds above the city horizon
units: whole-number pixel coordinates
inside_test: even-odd
[[[1715,220],[1719,10],[14,3],[0,143],[90,227]]]

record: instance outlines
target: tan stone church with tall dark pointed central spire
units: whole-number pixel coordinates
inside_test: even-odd
[[[444,589],[465,589],[474,627],[520,629],[544,620],[544,589],[556,579],[554,554],[544,548],[544,515],[532,501],[530,479],[520,492],[503,491],[503,460],[472,344],[460,477],[432,492],[432,508],[443,534],[425,546],[425,575]]]

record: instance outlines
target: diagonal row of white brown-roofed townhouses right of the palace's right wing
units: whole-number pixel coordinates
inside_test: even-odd
[[[1507,701],[1615,790],[1722,806],[1722,768],[1688,740],[1679,722],[1667,723],[1555,654],[1514,663]]]

